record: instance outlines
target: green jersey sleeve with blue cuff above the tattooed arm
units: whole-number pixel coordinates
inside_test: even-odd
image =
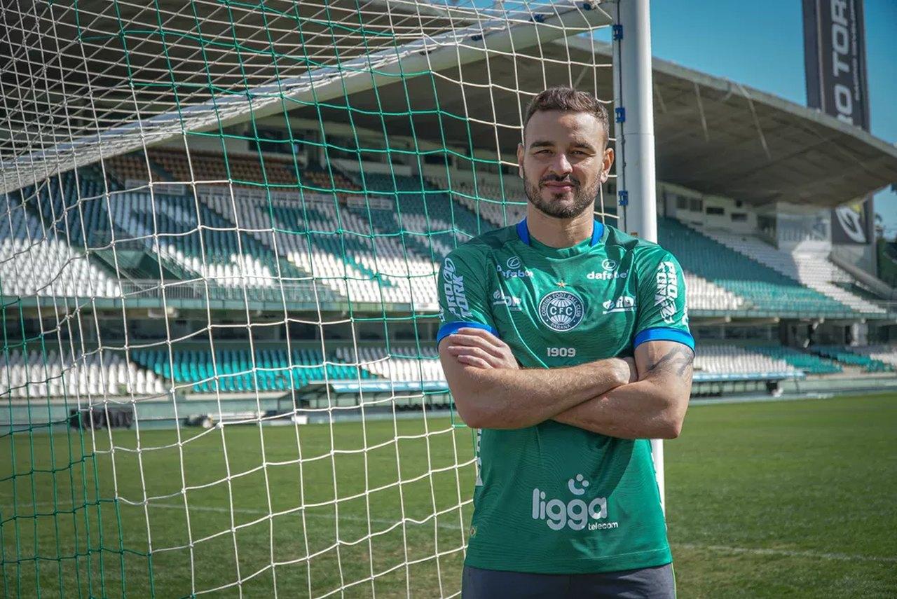
[[[638,273],[633,348],[646,341],[675,341],[694,351],[694,338],[688,329],[685,277],[679,261],[669,252],[653,252],[646,256]]]

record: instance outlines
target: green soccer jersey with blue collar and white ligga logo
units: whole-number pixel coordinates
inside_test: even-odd
[[[440,308],[437,343],[485,328],[523,368],[628,357],[646,341],[694,348],[675,257],[601,222],[573,247],[531,239],[526,220],[471,239],[443,261]],[[478,430],[476,462],[467,565],[576,574],[672,560],[647,439],[544,421]]]

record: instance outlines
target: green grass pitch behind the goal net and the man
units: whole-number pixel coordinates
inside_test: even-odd
[[[895,429],[893,395],[693,406],[666,444],[679,596],[897,596]],[[238,568],[244,597],[457,593],[470,430],[180,433],[0,438],[4,596],[239,596]],[[144,486],[145,511],[111,500],[140,503]]]

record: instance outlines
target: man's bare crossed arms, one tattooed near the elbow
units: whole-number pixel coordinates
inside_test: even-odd
[[[462,328],[440,342],[458,414],[479,429],[520,429],[549,419],[618,438],[675,438],[692,388],[692,350],[641,343],[635,359],[560,369],[519,369],[509,346]]]

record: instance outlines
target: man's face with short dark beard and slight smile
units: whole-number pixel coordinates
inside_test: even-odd
[[[529,119],[517,159],[536,209],[569,219],[592,208],[614,162],[604,135],[598,119],[586,112],[544,110]]]

